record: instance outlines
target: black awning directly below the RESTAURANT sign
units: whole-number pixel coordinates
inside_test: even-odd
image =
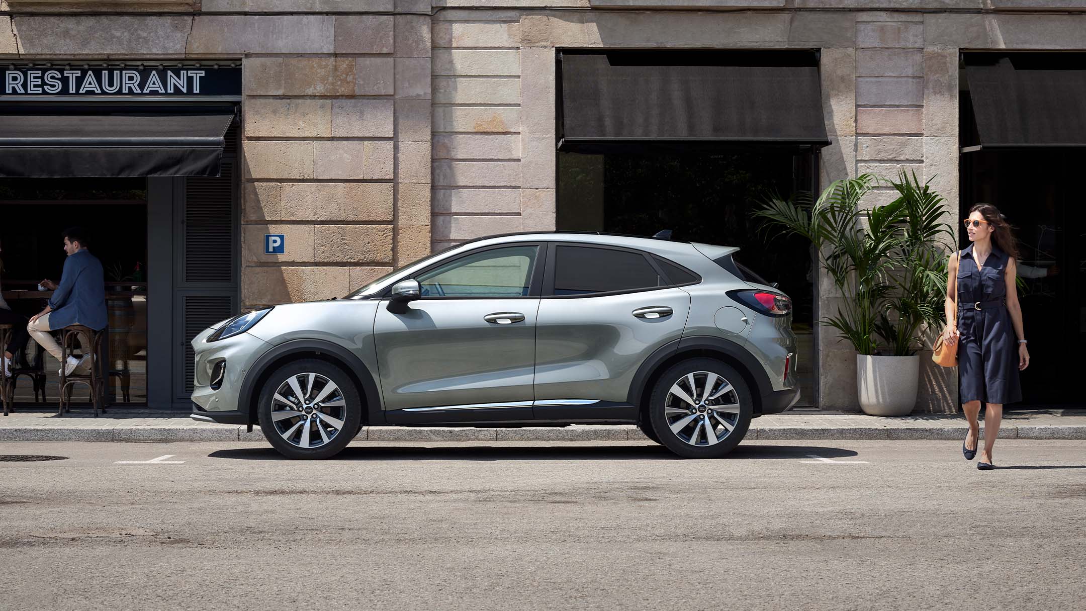
[[[0,111],[0,176],[218,176],[233,109]]]

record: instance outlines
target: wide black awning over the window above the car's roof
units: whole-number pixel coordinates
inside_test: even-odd
[[[830,144],[813,51],[563,52],[559,148]]]

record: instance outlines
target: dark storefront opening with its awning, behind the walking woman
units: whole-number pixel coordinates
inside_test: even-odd
[[[1019,238],[1019,297],[1033,361],[1020,408],[1083,407],[1086,341],[1086,54],[967,53],[960,96],[960,217],[995,204]],[[1037,89],[1043,89],[1038,91]],[[969,246],[960,232],[961,248]]]

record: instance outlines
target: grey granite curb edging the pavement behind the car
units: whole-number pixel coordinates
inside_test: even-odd
[[[948,440],[965,435],[965,426],[768,426],[752,427],[746,439]],[[1000,439],[1086,439],[1086,425],[1002,426]],[[522,428],[375,426],[358,433],[363,441],[647,441],[634,426],[564,426]],[[8,426],[0,441],[262,441],[260,428],[244,426]]]

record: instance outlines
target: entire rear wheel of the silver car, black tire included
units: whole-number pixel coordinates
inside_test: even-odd
[[[700,396],[691,396],[687,391],[690,375],[694,376],[694,390]],[[712,378],[712,375],[719,378]],[[711,394],[704,391],[706,383],[710,381],[714,383],[710,391],[721,395],[703,403],[700,399]],[[730,385],[730,389],[725,389],[725,384]],[[685,391],[695,403],[690,404],[678,395],[672,395],[673,385],[679,385],[679,390]],[[694,459],[720,458],[732,451],[750,427],[754,407],[754,397],[743,376],[725,363],[705,358],[687,359],[668,367],[653,386],[649,401],[649,422],[659,432],[660,444],[683,458]],[[714,410],[714,407],[719,407],[720,410]],[[669,408],[670,412],[667,411]],[[684,409],[686,413],[675,411],[678,409]],[[712,444],[709,444],[705,428],[706,417],[709,419],[717,439]],[[677,431],[672,429],[673,425],[683,421],[686,424]],[[695,444],[692,445],[691,439]]]

